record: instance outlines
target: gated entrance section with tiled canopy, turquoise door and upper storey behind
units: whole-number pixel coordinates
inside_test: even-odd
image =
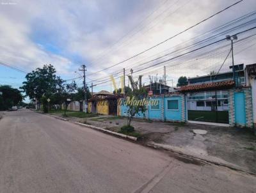
[[[244,65],[230,72],[188,79],[180,92],[186,96],[190,122],[225,123],[252,127],[252,93],[246,86]]]

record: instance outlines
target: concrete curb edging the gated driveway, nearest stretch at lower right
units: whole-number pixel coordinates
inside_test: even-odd
[[[183,151],[175,150],[175,148],[169,147],[168,145],[157,144],[157,143],[148,143],[147,146],[154,147],[154,148],[159,148],[159,149],[163,149],[163,150],[167,150],[167,151],[172,151],[174,153],[179,153],[180,155],[184,155],[186,157],[194,158],[194,159],[199,160],[201,162],[206,162],[206,163],[214,164],[214,165],[217,165],[217,166],[228,167],[229,169],[233,169],[233,170],[236,170],[236,171],[239,171],[239,172],[242,172],[242,173],[251,174],[253,176],[256,176],[256,173],[253,173],[251,171],[246,171],[246,169],[243,169],[242,167],[236,166],[234,164],[228,164],[228,162],[226,162],[226,163],[218,162],[216,160],[212,160],[211,158],[202,158],[200,156],[184,153]]]

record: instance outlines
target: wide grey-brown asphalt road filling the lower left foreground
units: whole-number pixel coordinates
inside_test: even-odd
[[[0,120],[0,192],[255,192],[256,178],[29,110]]]

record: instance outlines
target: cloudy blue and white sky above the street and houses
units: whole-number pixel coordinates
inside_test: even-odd
[[[230,47],[227,45],[230,42],[205,49],[207,53],[200,50],[186,58],[175,59],[154,68],[147,67],[159,60],[146,65],[141,63],[170,51],[184,49],[196,40],[211,37],[214,34],[209,31],[255,11],[255,0],[244,0],[136,58],[107,70],[102,69],[170,38],[236,1],[238,0],[0,0],[0,62],[25,72],[51,63],[63,79],[79,77],[75,72],[84,64],[88,70],[88,84],[98,84],[94,91],[110,89],[110,82],[99,83],[106,81],[109,75],[121,72],[123,68],[127,70],[126,73],[130,68],[134,72],[140,70],[137,75],[143,74],[145,81],[148,81],[148,75],[163,75],[164,65],[170,66],[167,68],[167,76],[173,81],[179,75],[204,75],[209,69],[218,70],[228,54]],[[237,27],[230,31],[230,35],[255,26],[254,20],[256,17],[252,15],[230,26],[230,29]],[[240,24],[244,26],[239,27]],[[240,35],[239,40],[255,33],[256,30],[252,30]],[[223,33],[218,38],[225,38],[225,35],[227,34]],[[218,49],[221,47],[223,49]],[[248,41],[237,42],[236,63],[256,63],[253,54],[255,48],[254,36]],[[183,52],[172,56],[180,53]],[[171,55],[168,57],[172,58]],[[205,64],[208,65],[207,68]],[[227,64],[230,64],[230,57]],[[204,68],[205,71],[202,70]],[[0,84],[10,84],[18,88],[25,75],[26,73],[0,65]],[[81,79],[76,81],[81,85]]]

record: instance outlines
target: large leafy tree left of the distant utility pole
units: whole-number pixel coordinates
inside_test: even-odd
[[[62,80],[56,75],[56,70],[52,65],[44,65],[43,68],[36,68],[26,75],[27,81],[20,89],[29,96],[30,99],[40,100],[42,96],[49,97],[56,93],[56,87]]]

